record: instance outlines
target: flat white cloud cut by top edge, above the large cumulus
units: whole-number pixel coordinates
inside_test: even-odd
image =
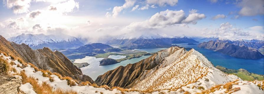
[[[178,3],[178,0],[147,0],[147,4],[158,4],[159,6],[174,6]]]

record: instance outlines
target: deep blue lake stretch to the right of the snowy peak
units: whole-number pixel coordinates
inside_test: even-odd
[[[188,43],[176,44],[180,47],[194,48],[211,61],[214,66],[223,66],[227,69],[246,69],[256,74],[264,74],[264,59],[240,59],[220,52],[198,48],[197,45],[187,45]],[[198,44],[198,43],[197,43]]]

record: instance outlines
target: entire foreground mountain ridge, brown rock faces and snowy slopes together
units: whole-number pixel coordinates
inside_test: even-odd
[[[0,71],[0,93],[264,93],[263,81],[242,81],[223,73],[194,49],[170,47],[137,63],[119,66],[100,75],[96,79],[98,86],[88,76],[75,79],[74,75],[81,75],[81,71],[58,51],[52,52],[49,48],[31,51],[29,46],[10,43],[1,36],[0,44],[0,68],[12,65],[5,74]],[[58,69],[53,70],[54,67]],[[72,76],[65,77],[67,74]]]

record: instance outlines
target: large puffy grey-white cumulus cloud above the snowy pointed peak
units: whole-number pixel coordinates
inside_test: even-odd
[[[165,10],[154,14],[150,19],[143,22],[133,22],[126,26],[127,30],[144,30],[150,28],[162,28],[172,25],[196,24],[198,20],[205,18],[204,14],[196,13],[197,10],[191,10],[186,17],[183,10],[173,11]]]

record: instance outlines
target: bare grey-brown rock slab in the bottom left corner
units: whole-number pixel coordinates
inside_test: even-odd
[[[22,82],[15,77],[8,77],[6,75],[1,75],[0,78],[0,94],[18,94],[19,87]]]

